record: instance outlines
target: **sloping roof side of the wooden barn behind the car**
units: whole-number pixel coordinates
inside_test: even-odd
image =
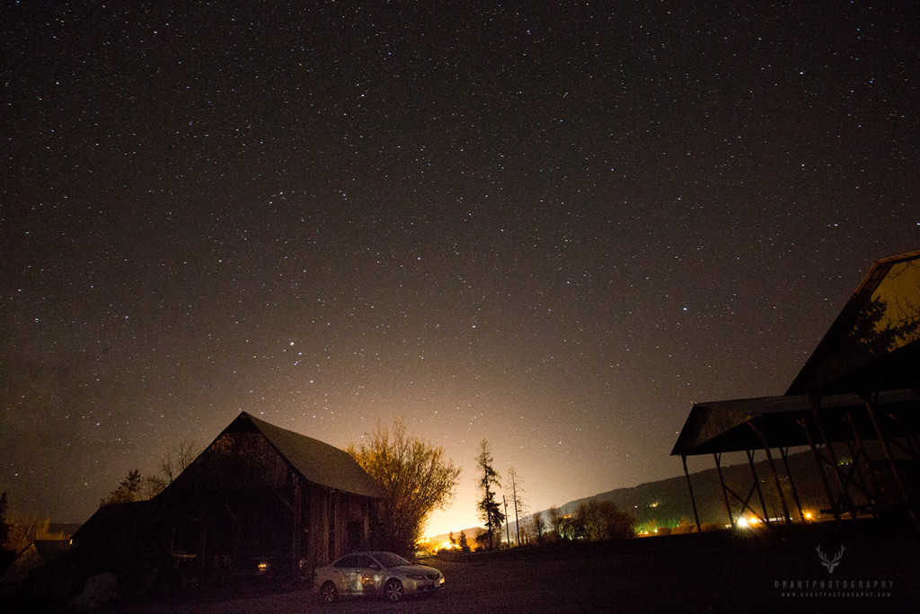
[[[385,496],[383,487],[348,452],[305,434],[261,421],[246,411],[240,413],[231,426],[239,421],[252,423],[306,481],[365,497]]]

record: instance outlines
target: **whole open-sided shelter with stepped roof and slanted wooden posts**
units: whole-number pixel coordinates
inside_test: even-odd
[[[873,265],[785,395],[697,403],[672,454],[684,461],[693,500],[687,457],[712,454],[721,478],[721,455],[746,453],[750,488],[738,492],[722,481],[732,525],[748,513],[766,524],[771,516],[790,523],[793,504],[803,518],[787,463],[794,446],[811,449],[834,518],[900,515],[916,523],[918,434],[920,252],[914,252]],[[760,450],[780,500],[773,515],[754,470]]]

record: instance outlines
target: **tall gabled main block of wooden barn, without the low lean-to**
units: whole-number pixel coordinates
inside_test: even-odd
[[[369,546],[383,495],[343,450],[241,412],[157,507],[178,567],[309,577]]]

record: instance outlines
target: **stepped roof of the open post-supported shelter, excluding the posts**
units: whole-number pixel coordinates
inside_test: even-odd
[[[786,395],[697,403],[672,454],[758,449],[764,446],[762,437],[771,447],[805,446],[808,439],[798,421],[812,413],[809,395],[821,400],[822,426],[830,441],[852,440],[854,429],[860,437],[875,439],[865,402],[856,394],[864,390],[879,393],[883,405],[907,408],[908,428],[920,434],[920,397],[912,391],[920,382],[918,308],[920,251],[877,261]],[[852,424],[837,420],[844,414]]]

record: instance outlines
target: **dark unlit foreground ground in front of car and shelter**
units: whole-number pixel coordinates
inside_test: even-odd
[[[309,590],[263,587],[259,595],[188,595],[117,611],[920,612],[918,546],[915,532],[831,525],[568,544],[429,559],[446,577],[443,591],[396,606],[325,606]],[[818,547],[828,559],[844,549],[833,573]]]

